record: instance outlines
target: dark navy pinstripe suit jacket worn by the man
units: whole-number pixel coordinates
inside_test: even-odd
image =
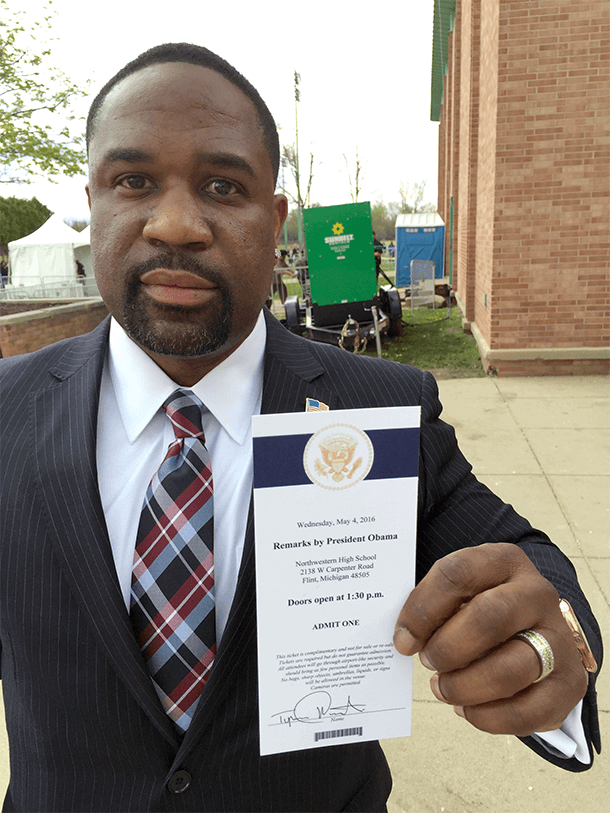
[[[456,548],[517,541],[572,602],[599,656],[599,631],[571,565],[469,473],[453,431],[438,421],[432,377],[267,321],[264,412],[302,411],[307,396],[331,409],[421,404],[418,576]],[[11,750],[4,809],[384,809],[390,778],[377,744],[258,756],[251,512],[216,663],[177,739],[131,631],[97,486],[107,330],[0,362],[0,643]],[[597,743],[593,684],[585,724]],[[175,795],[167,782],[178,769],[192,783]]]

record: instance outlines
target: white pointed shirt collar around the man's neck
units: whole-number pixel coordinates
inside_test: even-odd
[[[252,415],[260,411],[266,335],[261,312],[254,330],[239,347],[188,388],[239,444],[246,439]],[[114,318],[110,323],[108,368],[127,438],[134,443],[178,384]]]

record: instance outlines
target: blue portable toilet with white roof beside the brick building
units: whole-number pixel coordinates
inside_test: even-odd
[[[445,275],[445,224],[438,212],[398,215],[396,218],[396,287],[411,284],[411,260],[435,265],[434,278]]]

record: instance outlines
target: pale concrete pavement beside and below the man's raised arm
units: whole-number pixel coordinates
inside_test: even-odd
[[[479,479],[572,559],[602,630],[610,630],[610,379],[474,378],[439,387],[443,418]],[[416,659],[413,734],[384,742],[394,774],[390,813],[607,810],[607,750],[591,771],[567,773],[513,737],[473,729],[435,700],[428,680]],[[598,690],[603,736],[608,668]],[[0,799],[7,783],[0,738]]]

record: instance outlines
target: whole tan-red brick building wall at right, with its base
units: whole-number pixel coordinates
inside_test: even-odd
[[[610,371],[608,22],[605,0],[457,3],[439,207],[499,374]]]

